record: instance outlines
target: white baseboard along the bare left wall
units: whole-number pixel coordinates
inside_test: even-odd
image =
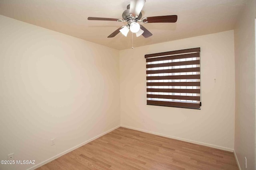
[[[93,137],[93,138],[91,138],[91,139],[89,139],[89,140],[87,140],[87,141],[84,141],[83,143],[80,143],[80,144],[78,144],[78,145],[76,145],[76,146],[74,146],[74,147],[72,147],[72,148],[70,148],[70,149],[68,149],[68,150],[65,150],[64,152],[61,152],[61,153],[59,153],[59,154],[57,154],[57,155],[55,155],[55,156],[53,156],[53,157],[51,157],[51,158],[49,158],[49,159],[47,159],[47,160],[44,160],[43,162],[41,162],[41,163],[39,163],[39,164],[36,164],[35,166],[32,166],[31,168],[28,168],[28,170],[34,170],[34,169],[36,169],[36,168],[39,168],[40,166],[43,166],[44,164],[47,164],[48,162],[51,162],[51,161],[53,161],[54,159],[57,159],[57,158],[59,158],[60,156],[66,154],[66,153],[68,153],[68,152],[71,152],[72,150],[78,149],[79,147],[82,147],[83,145],[85,145],[85,144],[87,144],[87,143],[89,143],[89,142],[91,142],[91,141],[93,141],[93,140],[95,140],[95,139],[97,139],[97,138],[99,138],[99,137],[102,137],[103,135],[106,135],[107,133],[110,133],[111,131],[114,131],[114,130],[117,129],[118,127],[120,127],[120,125],[119,125],[119,126],[116,126],[116,127],[114,127],[114,128],[112,128],[112,129],[110,129],[110,130],[108,130],[108,131],[106,131],[106,132],[104,132],[104,133],[102,133],[102,134],[100,134],[100,135],[97,135],[96,137]]]

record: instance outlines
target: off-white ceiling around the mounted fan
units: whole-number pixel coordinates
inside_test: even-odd
[[[0,15],[112,47],[132,47],[132,34],[107,38],[122,25],[88,21],[122,18],[130,0],[0,0]],[[153,35],[134,36],[134,47],[234,29],[246,0],[146,0],[142,17],[178,15],[176,23],[142,23]]]

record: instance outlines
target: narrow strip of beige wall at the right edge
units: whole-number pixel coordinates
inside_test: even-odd
[[[234,150],[242,170],[245,169],[245,156],[248,170],[253,170],[255,164],[255,18],[256,0],[248,0],[234,30],[236,70]]]

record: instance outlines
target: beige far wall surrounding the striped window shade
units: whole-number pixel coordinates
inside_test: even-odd
[[[194,47],[201,47],[201,110],[146,105],[144,55]],[[121,125],[232,151],[234,74],[234,31],[120,51]]]

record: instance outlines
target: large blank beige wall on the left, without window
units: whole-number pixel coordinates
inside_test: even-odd
[[[0,69],[0,160],[38,164],[120,125],[115,49],[0,16]]]

